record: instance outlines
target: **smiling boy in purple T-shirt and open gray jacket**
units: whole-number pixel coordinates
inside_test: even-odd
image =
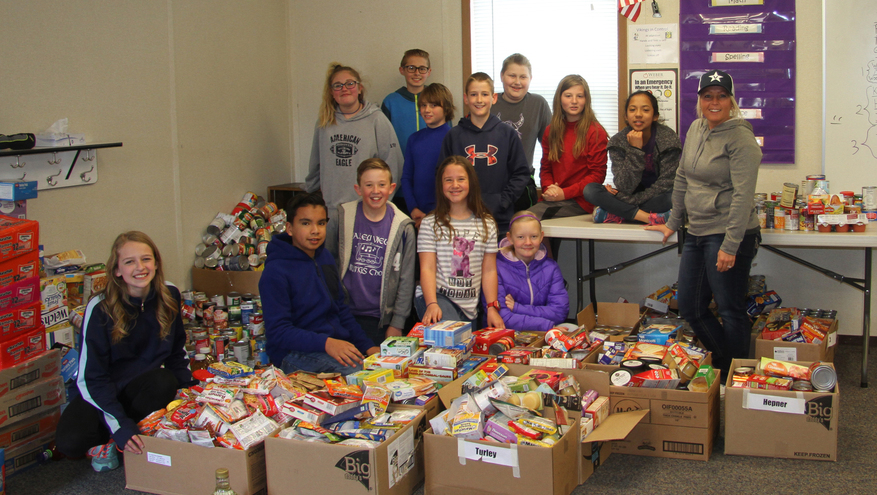
[[[402,335],[414,298],[414,222],[393,203],[393,173],[380,158],[356,170],[362,199],[339,207],[341,280],[350,310],[365,334],[380,345]]]

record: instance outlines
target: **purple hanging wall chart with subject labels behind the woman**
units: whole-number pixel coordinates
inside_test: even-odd
[[[684,140],[697,118],[700,76],[719,69],[734,79],[734,97],[761,144],[762,163],[794,163],[795,0],[728,3],[680,1],[679,135]]]

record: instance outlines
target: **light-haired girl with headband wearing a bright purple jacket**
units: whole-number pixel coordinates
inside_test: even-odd
[[[548,331],[569,314],[569,294],[557,262],[542,245],[542,223],[529,211],[515,213],[499,244],[499,314],[506,328]]]

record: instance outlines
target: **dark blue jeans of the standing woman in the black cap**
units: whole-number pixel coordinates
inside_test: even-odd
[[[752,324],[746,313],[749,268],[758,252],[761,234],[747,234],[737,249],[734,266],[726,272],[716,269],[719,247],[725,234],[688,234],[679,263],[679,314],[697,338],[713,353],[713,367],[728,372],[731,360],[749,356]],[[715,299],[722,322],[709,309]]]

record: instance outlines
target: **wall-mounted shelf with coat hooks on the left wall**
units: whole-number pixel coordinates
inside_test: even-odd
[[[97,153],[122,143],[94,143],[0,151],[0,180],[37,181],[38,190],[86,186],[97,182]],[[27,158],[25,158],[27,157]]]

